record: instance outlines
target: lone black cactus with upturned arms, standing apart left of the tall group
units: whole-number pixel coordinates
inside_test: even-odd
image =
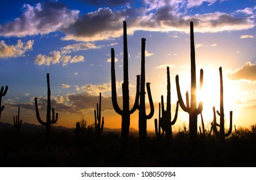
[[[46,113],[46,122],[43,122],[40,118],[38,105],[37,105],[37,97],[35,97],[35,113],[37,115],[37,121],[41,123],[41,125],[46,126],[46,144],[50,141],[50,131],[51,125],[57,123],[58,120],[58,113],[56,113],[54,108],[51,109],[51,89],[50,89],[50,77],[49,73],[47,73],[47,113]],[[51,111],[52,111],[52,119],[51,119]]]

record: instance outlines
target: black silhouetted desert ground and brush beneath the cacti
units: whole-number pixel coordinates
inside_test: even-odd
[[[256,138],[250,129],[237,128],[224,143],[213,135],[198,136],[190,144],[188,132],[174,134],[170,143],[165,137],[149,135],[140,142],[136,134],[122,144],[120,132],[84,129],[52,131],[46,145],[44,129],[20,131],[1,129],[1,167],[254,167]]]

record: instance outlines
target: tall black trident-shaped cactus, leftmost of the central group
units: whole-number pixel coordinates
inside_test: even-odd
[[[133,108],[130,110],[129,107],[129,78],[128,78],[128,49],[127,49],[127,30],[126,22],[123,21],[123,110],[120,109],[117,102],[116,96],[116,75],[114,70],[114,49],[111,48],[111,94],[112,104],[114,111],[122,116],[122,141],[128,141],[129,138],[129,127],[130,127],[130,116],[138,109],[139,102],[139,91],[140,91],[140,75],[137,75],[136,79],[136,97]]]

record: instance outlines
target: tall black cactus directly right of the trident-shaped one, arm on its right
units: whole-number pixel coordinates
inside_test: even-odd
[[[147,94],[149,96],[149,105],[151,111],[146,114],[145,105],[145,38],[142,38],[142,67],[140,75],[140,104],[138,106],[139,110],[139,138],[140,141],[145,141],[147,139],[147,120],[151,119],[154,115],[154,104],[151,96],[150,83],[147,82]]]

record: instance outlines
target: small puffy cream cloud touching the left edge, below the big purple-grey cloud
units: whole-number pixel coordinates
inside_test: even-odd
[[[7,45],[5,40],[0,41],[0,58],[21,57],[26,51],[32,50],[33,40],[22,42],[17,40],[15,45]]]

